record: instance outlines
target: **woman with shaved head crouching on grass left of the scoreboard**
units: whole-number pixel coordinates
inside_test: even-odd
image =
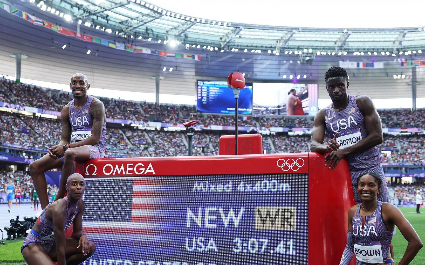
[[[72,174],[66,181],[68,195],[44,209],[21,248],[28,265],[77,265],[94,254],[96,247],[81,232],[84,184],[80,174]],[[66,238],[73,220],[74,238]]]

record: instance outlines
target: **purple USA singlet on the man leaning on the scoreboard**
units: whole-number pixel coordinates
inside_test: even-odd
[[[348,106],[342,111],[335,112],[333,104],[326,107],[326,132],[331,138],[338,132],[337,142],[340,149],[355,145],[368,136],[363,113],[357,107],[356,95],[348,97]],[[347,159],[350,171],[375,167],[382,161],[376,146],[361,153],[348,155]]]

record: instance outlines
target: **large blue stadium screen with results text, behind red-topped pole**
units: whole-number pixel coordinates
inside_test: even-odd
[[[235,97],[227,81],[196,83],[196,108],[199,112],[235,114]],[[252,83],[246,83],[238,99],[238,113],[252,113]]]

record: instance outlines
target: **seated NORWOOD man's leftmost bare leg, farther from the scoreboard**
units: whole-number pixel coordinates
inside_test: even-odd
[[[34,183],[35,190],[37,191],[38,198],[40,198],[41,209],[44,209],[49,204],[47,181],[44,173],[53,168],[62,167],[62,165],[63,163],[60,159],[53,159],[49,156],[49,154],[45,154],[42,158],[29,164],[31,178]]]

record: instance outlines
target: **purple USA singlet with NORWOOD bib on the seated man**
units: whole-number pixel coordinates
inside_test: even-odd
[[[93,126],[93,118],[89,114],[93,96],[87,96],[87,101],[81,109],[75,109],[74,99],[69,103],[69,122],[72,126],[71,140],[81,141],[91,136],[91,127]],[[103,123],[100,141],[96,147],[105,150],[106,120]]]

